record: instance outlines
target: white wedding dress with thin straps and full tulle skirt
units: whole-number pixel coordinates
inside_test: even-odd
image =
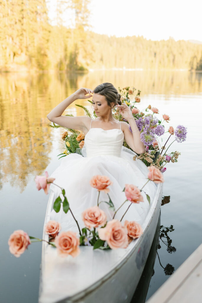
[[[92,123],[92,120],[91,120]],[[91,187],[90,180],[94,175],[108,176],[113,182],[108,188],[109,196],[117,209],[125,200],[123,189],[125,184],[136,185],[139,189],[147,181],[147,166],[139,159],[133,160],[135,152],[123,146],[124,133],[120,129],[114,128],[104,130],[102,128],[90,128],[85,135],[82,155],[70,154],[61,159],[61,164],[50,175],[55,178],[54,183],[65,189],[70,208],[78,221],[80,228],[84,227],[81,213],[86,208],[97,205],[98,190]],[[54,199],[61,193],[60,188],[51,184],[50,188],[54,191]],[[143,189],[151,198],[151,204],[156,191],[154,182],[149,181]],[[128,209],[122,222],[137,221],[142,225],[149,211],[149,203],[144,192],[141,193],[144,202],[133,203]],[[62,194],[60,194],[63,200]],[[54,200],[55,201],[55,200]],[[99,201],[109,201],[108,195],[100,192]],[[115,219],[121,219],[122,215],[130,205],[130,201],[118,210]],[[99,207],[107,215],[108,221],[112,219],[114,211],[109,210],[108,205],[102,202]],[[76,231],[78,227],[73,219],[71,212],[64,213],[62,206],[58,213],[51,211],[51,220],[61,223],[63,231]]]

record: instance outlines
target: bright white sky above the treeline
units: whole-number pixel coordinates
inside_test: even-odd
[[[50,18],[54,18],[51,1]],[[198,40],[202,42],[201,0],[91,0],[91,31],[125,36],[143,36],[147,40]],[[71,25],[72,12],[66,12]]]

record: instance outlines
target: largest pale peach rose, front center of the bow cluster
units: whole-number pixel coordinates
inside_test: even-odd
[[[98,228],[101,240],[107,241],[112,249],[126,248],[128,246],[127,228],[121,222],[113,219],[104,228]]]

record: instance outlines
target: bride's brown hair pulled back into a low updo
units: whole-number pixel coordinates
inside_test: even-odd
[[[115,105],[121,105],[121,95],[118,93],[117,89],[114,87],[113,84],[104,82],[93,90],[95,94],[99,94],[105,97],[107,100],[107,104],[111,106],[111,103],[114,102]],[[114,106],[115,106],[114,105]],[[112,108],[112,106],[111,106]]]

